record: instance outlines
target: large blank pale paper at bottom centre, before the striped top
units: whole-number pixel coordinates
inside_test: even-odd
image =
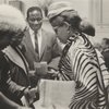
[[[75,93],[74,81],[41,80],[39,104],[43,107],[60,106],[66,109]]]

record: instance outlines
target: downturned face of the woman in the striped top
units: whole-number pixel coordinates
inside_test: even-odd
[[[59,40],[62,44],[66,44],[66,40],[69,39],[69,26],[65,22],[61,22],[60,17],[56,17],[52,22],[51,25],[59,38]]]

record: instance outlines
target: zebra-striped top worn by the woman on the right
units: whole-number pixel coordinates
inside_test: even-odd
[[[85,37],[75,35],[66,53],[61,58],[60,78],[75,81],[75,95],[70,109],[106,109],[106,95],[97,53]],[[64,52],[63,52],[64,53]]]

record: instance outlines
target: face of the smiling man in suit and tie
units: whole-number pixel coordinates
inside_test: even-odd
[[[41,27],[41,24],[43,24],[43,14],[39,11],[34,10],[34,11],[29,12],[27,22],[29,24],[29,27],[34,32],[37,32]]]

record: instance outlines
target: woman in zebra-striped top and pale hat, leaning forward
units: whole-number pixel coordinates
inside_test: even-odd
[[[74,10],[48,16],[58,38],[65,44],[58,77],[76,84],[70,109],[107,109],[101,68],[94,46],[84,34],[82,19]],[[94,28],[89,35],[95,35]]]

